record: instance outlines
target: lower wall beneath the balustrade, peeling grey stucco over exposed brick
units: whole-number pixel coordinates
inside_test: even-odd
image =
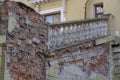
[[[110,80],[109,46],[86,42],[51,53],[47,80]]]

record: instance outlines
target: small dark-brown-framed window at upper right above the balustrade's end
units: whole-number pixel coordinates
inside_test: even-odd
[[[103,14],[103,3],[95,4],[95,17],[100,17]]]

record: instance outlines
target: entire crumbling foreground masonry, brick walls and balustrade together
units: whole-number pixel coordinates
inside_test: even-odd
[[[12,80],[112,80],[110,15],[50,25],[20,2],[1,2],[0,11]]]

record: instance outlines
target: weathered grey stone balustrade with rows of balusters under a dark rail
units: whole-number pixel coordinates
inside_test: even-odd
[[[108,17],[55,23],[48,30],[48,49],[61,49],[107,35]]]

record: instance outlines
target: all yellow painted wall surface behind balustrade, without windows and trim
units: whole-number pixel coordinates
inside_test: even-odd
[[[14,0],[26,3],[27,5],[35,8],[32,4],[30,4],[27,0]],[[84,19],[84,12],[85,12],[85,2],[87,0],[66,0],[66,20],[79,20]],[[108,14],[111,13],[114,16],[115,21],[115,29],[116,32],[120,34],[120,0],[89,0],[87,5],[87,18],[94,18],[94,4],[103,2],[104,5],[104,13]],[[45,2],[40,4],[40,10],[49,10],[53,8],[62,7],[62,0],[57,0],[53,2]]]

